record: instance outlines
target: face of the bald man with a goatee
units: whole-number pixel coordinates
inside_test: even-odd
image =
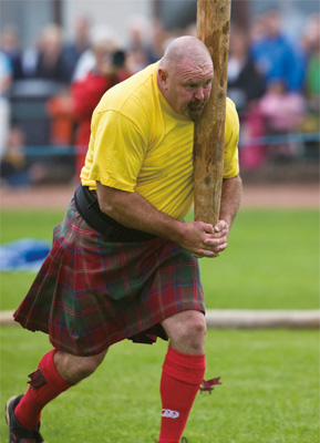
[[[202,63],[185,59],[166,71],[164,96],[178,114],[196,120],[209,100],[213,78],[209,58]]]

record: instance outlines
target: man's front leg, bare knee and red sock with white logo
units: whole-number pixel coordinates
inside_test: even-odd
[[[169,337],[161,380],[162,424],[159,443],[178,443],[192,405],[204,379],[205,316],[184,311],[167,318],[163,327]]]

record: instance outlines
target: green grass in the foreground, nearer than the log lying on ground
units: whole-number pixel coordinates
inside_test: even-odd
[[[48,348],[44,334],[1,330],[1,404],[23,393],[27,374]],[[166,343],[112,347],[95,374],[42,414],[48,443],[154,443]],[[184,435],[188,443],[318,443],[319,336],[316,331],[223,331],[207,336],[206,377]],[[4,422],[0,441],[7,441]]]

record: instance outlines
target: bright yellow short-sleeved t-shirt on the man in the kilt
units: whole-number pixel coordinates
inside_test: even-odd
[[[109,90],[96,106],[81,181],[136,192],[182,220],[194,198],[194,122],[177,114],[157,86],[158,63]],[[238,166],[239,121],[227,101],[224,177]]]

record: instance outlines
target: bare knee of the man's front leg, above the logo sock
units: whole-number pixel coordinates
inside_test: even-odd
[[[175,350],[203,354],[205,352],[206,319],[199,311],[184,311],[176,313],[163,322],[171,346]]]

